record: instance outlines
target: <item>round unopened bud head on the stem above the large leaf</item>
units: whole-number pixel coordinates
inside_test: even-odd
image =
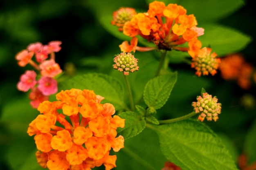
[[[197,102],[192,102],[194,112],[200,114],[198,119],[203,121],[206,117],[208,121],[218,120],[218,114],[221,112],[221,104],[217,103],[216,96],[212,97],[208,93],[202,93],[202,96],[198,96]]]

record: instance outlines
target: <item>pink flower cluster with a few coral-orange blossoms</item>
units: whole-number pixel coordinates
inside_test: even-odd
[[[51,41],[47,45],[40,42],[29,44],[27,49],[20,51],[15,57],[19,66],[25,67],[30,64],[40,74],[38,75],[40,78],[36,80],[37,73],[34,70],[27,70],[20,76],[17,84],[19,91],[27,92],[31,89],[29,98],[33,108],[37,108],[41,102],[49,99],[49,95],[58,91],[54,77],[62,73],[62,70],[55,62],[55,53],[61,50],[61,43],[61,41]],[[32,60],[33,56],[36,62]]]

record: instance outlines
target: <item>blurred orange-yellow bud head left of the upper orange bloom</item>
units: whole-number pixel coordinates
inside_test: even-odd
[[[133,8],[121,7],[113,12],[113,20],[111,21],[111,24],[117,26],[118,31],[123,31],[124,23],[130,21],[136,14],[135,9]]]

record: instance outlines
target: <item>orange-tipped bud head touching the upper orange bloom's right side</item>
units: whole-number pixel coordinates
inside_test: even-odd
[[[195,68],[195,75],[215,75],[220,64],[220,59],[216,58],[216,53],[211,53],[210,48],[200,49],[197,56],[192,58],[191,68]]]

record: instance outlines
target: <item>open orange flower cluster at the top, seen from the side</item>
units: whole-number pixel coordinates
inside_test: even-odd
[[[154,49],[189,51],[194,57],[201,48],[198,36],[204,34],[204,29],[198,28],[193,14],[186,15],[186,9],[177,4],[154,1],[149,4],[147,13],[137,13],[124,23],[123,33],[132,37],[132,44],[123,42],[120,48],[123,52],[150,51]],[[135,36],[141,36],[155,43],[157,47],[137,47]],[[189,48],[178,45],[189,42]]]

